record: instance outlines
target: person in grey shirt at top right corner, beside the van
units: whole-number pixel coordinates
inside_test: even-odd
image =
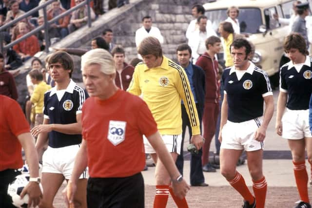
[[[299,33],[305,40],[307,49],[310,47],[305,18],[309,15],[309,2],[296,5],[298,15],[293,20],[292,33]]]

